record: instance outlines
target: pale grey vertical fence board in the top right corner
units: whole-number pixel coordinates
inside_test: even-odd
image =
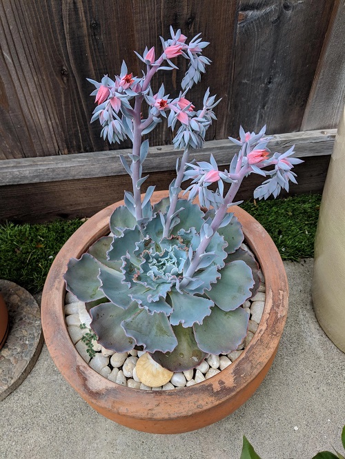
[[[333,8],[302,130],[336,128],[345,104],[345,1]]]

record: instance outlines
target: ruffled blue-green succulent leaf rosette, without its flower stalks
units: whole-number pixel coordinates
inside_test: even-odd
[[[177,201],[175,225],[163,238],[168,198],[137,224],[126,206],[110,218],[113,236],[100,238],[68,263],[68,290],[86,303],[98,342],[117,352],[139,347],[171,371],[197,366],[206,354],[230,352],[246,336],[241,307],[259,280],[257,264],[240,246],[241,225],[230,222],[213,235],[193,278],[181,281],[199,247],[206,221],[198,205]]]

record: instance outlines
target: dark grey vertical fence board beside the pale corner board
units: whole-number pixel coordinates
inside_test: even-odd
[[[299,130],[334,0],[238,0],[228,132]]]

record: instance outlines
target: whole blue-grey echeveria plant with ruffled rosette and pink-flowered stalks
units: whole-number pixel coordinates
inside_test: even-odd
[[[239,153],[229,159],[228,170],[219,170],[212,155],[209,163],[190,161],[190,152],[204,145],[219,100],[206,90],[197,110],[186,98],[210,63],[202,55],[208,42],[198,34],[187,43],[181,30],[170,28],[170,33],[171,39],[161,38],[160,56],[154,47],[142,56],[136,53],[146,65],[142,77],[133,76],[123,62],[115,79],[105,75],[101,83],[89,80],[98,104],[91,121],[99,119],[101,135],[110,143],[127,137],[132,141],[130,163],[120,155],[132,192],[125,192],[125,205],[110,218],[111,236],[99,239],[79,260],[72,259],[65,278],[70,292],[86,303],[101,345],[117,352],[140,347],[164,367],[179,371],[197,366],[206,354],[233,351],[246,336],[248,314],[242,305],[255,293],[259,278],[253,256],[240,248],[241,225],[228,213],[239,185],[252,173],[268,176],[254,196],[276,197],[282,188],[288,190],[289,181],[295,182],[291,169],[302,161],[290,158],[293,147],[269,157],[266,126],[258,134],[241,127],[239,139],[229,138],[239,145]],[[162,84],[154,94],[152,77],[177,68],[170,59],[179,56],[189,60],[184,92],[170,98]],[[169,197],[152,207],[155,187],[149,186],[141,201],[149,152],[143,136],[162,119],[172,131],[179,123],[173,143],[184,153]],[[181,184],[188,179],[188,200],[180,199]],[[217,190],[209,190],[215,183]],[[224,183],[230,185],[225,196]],[[195,196],[202,207],[191,202]]]

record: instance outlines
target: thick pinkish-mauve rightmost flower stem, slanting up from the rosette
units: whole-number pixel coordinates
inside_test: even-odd
[[[226,193],[226,196],[224,198],[223,204],[219,207],[217,212],[215,213],[215,218],[213,218],[213,221],[210,225],[211,229],[213,230],[213,234],[218,230],[219,225],[223,221],[224,216],[226,215],[226,212],[228,210],[228,205],[233,202],[235,195],[237,191],[239,190],[239,187],[242,183],[242,180],[244,179],[244,176],[249,172],[250,167],[243,167],[242,170],[238,174],[237,182],[236,183],[231,183],[230,189]],[[195,252],[192,262],[190,263],[190,267],[188,267],[187,272],[184,276],[184,279],[181,281],[180,287],[186,287],[188,285],[189,281],[188,278],[193,277],[193,274],[197,270],[197,267],[199,266],[200,263],[200,257],[202,254],[205,253],[205,250],[210,243],[211,239],[213,238],[213,235],[210,238],[204,237],[201,239],[199,247],[197,248],[197,251]]]

